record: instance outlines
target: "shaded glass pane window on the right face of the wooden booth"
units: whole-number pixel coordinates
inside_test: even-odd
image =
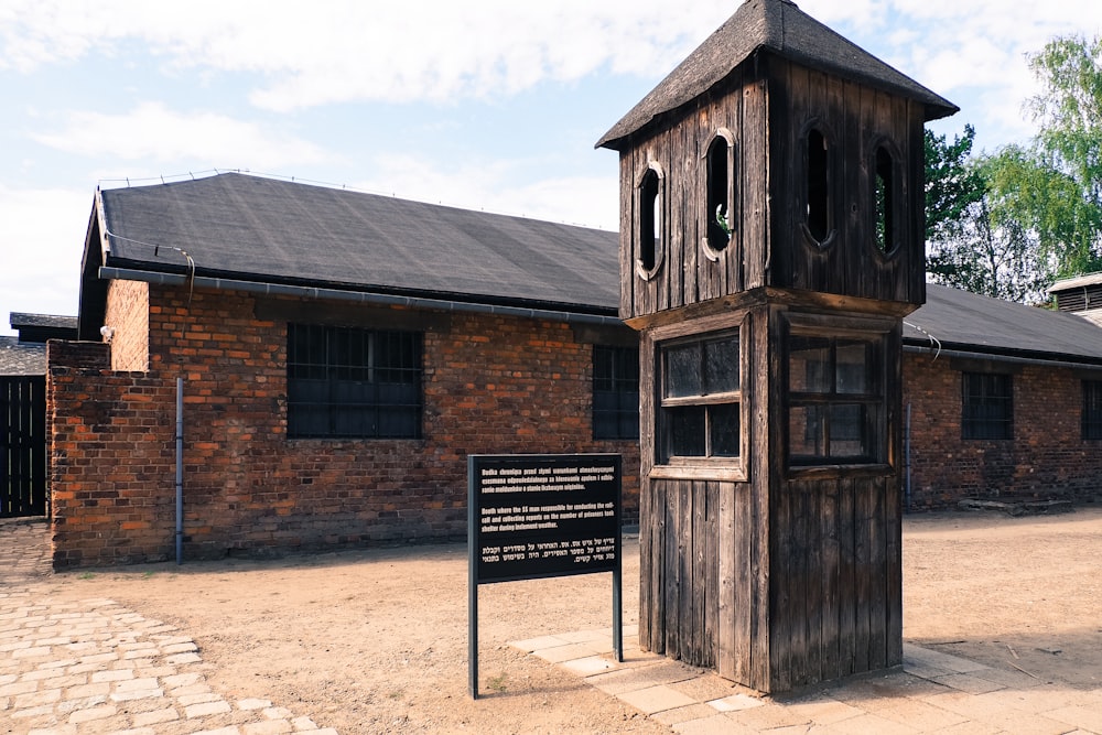
[[[790,337],[788,442],[792,464],[882,460],[880,343],[880,337]]]

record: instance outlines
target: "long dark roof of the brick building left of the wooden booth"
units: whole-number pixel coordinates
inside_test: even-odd
[[[615,315],[616,233],[237,173],[105,190],[105,266]],[[186,257],[183,255],[186,253]]]

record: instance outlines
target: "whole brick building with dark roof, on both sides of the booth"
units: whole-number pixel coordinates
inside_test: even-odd
[[[173,556],[177,378],[187,559],[461,539],[480,453],[620,453],[634,519],[617,246],[240,174],[97,192],[83,342],[48,347],[55,566]],[[1102,331],[928,296],[904,335],[911,507],[1093,497]]]

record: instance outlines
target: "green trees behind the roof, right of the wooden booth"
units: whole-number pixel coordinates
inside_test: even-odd
[[[1029,66],[1027,144],[973,155],[970,126],[926,140],[931,278],[1016,301],[1102,270],[1102,39],[1054,39]]]

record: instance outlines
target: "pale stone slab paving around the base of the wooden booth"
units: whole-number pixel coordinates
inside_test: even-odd
[[[774,698],[641,651],[626,642],[627,636],[619,662],[611,631],[603,633],[543,636],[512,646],[683,735],[1102,735],[1102,688],[1071,690],[910,644],[904,644],[901,667]],[[585,650],[576,641],[585,641]]]

